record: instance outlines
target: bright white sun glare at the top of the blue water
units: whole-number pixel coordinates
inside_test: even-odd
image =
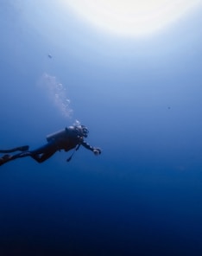
[[[163,29],[201,0],[63,0],[99,29],[117,35],[147,35]]]

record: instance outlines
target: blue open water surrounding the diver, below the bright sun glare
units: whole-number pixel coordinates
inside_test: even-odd
[[[201,10],[127,36],[0,1],[0,149],[75,122],[102,149],[0,167],[1,256],[202,255]]]

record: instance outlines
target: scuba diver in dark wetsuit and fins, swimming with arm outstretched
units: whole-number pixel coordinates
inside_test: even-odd
[[[49,157],[52,157],[56,151],[69,151],[75,149],[71,157],[66,159],[66,161],[69,162],[75,151],[79,150],[80,145],[84,146],[87,150],[92,150],[92,152],[98,156],[101,154],[101,150],[99,148],[92,147],[90,144],[85,142],[84,138],[87,138],[88,132],[89,131],[85,125],[73,125],[66,127],[61,131],[47,135],[47,144],[36,150],[28,150],[28,145],[11,150],[0,150],[0,153],[5,153],[5,155],[0,158],[0,165],[22,157],[32,157],[36,162],[42,163]],[[21,152],[13,156],[8,154],[16,150],[20,150]]]

